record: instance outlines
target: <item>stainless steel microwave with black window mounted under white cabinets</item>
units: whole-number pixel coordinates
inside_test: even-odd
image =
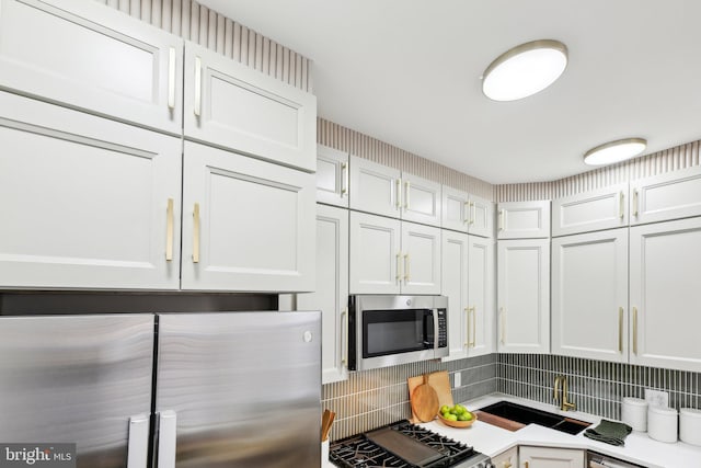
[[[447,355],[447,297],[357,295],[348,299],[349,370]]]

